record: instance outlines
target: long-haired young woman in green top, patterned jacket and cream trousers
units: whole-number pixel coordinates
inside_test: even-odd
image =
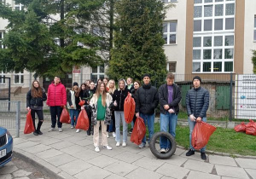
[[[100,152],[100,135],[99,128],[102,124],[102,146],[111,150],[112,147],[108,146],[107,138],[107,124],[111,121],[110,104],[112,97],[109,95],[104,83],[98,84],[96,94],[90,99],[90,106],[92,107],[91,122],[94,124],[93,143],[96,152]]]

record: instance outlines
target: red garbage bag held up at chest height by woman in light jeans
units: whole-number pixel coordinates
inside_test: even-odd
[[[131,123],[134,113],[135,113],[135,101],[131,97],[130,93],[128,93],[124,103],[124,114],[125,114],[126,123],[128,124]]]

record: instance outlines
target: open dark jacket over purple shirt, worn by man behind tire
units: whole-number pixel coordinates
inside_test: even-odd
[[[168,103],[168,88],[167,84],[163,84],[160,86],[159,90],[159,101],[160,101],[160,113],[166,114],[167,110],[165,110],[164,106],[169,105],[175,113],[179,112],[178,103],[181,101],[181,92],[180,88],[177,84],[173,84],[173,94],[172,94],[172,102]]]

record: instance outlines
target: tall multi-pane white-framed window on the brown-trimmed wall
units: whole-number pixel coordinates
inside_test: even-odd
[[[194,0],[193,72],[233,72],[235,11],[235,0]]]

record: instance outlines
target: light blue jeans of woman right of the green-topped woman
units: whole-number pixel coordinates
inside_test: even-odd
[[[127,142],[127,129],[128,124],[125,122],[125,114],[124,112],[114,112],[114,118],[115,118],[115,141],[121,141],[121,134],[120,134],[120,122],[121,118],[123,121],[123,142]]]

